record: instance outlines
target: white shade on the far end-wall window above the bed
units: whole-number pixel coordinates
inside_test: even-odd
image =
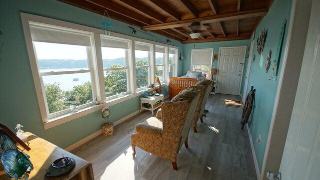
[[[191,64],[211,64],[213,49],[192,49]]]

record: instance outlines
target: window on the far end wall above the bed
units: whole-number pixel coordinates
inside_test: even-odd
[[[191,50],[191,70],[209,74],[211,68],[213,49],[192,49]]]

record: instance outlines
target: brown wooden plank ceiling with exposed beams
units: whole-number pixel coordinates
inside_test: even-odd
[[[59,0],[181,43],[249,39],[273,0]],[[198,22],[197,26],[191,25]],[[114,27],[116,29],[116,27]],[[129,27],[128,27],[129,29]],[[199,32],[192,39],[189,34]]]

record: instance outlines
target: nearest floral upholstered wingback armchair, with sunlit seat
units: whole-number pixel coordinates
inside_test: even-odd
[[[183,143],[188,148],[187,136],[200,92],[185,89],[171,102],[161,105],[161,119],[151,117],[135,127],[131,135],[131,147],[135,146],[160,158],[170,160],[177,170],[176,155]]]

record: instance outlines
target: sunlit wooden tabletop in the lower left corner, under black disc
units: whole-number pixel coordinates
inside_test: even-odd
[[[74,168],[58,177],[46,177],[45,180],[69,180],[69,179],[82,179],[82,180],[93,180],[92,165],[83,159],[69,153],[52,143],[45,141],[44,139],[38,138],[32,133],[25,132],[28,136],[26,141],[29,142],[30,151],[24,150],[23,152],[30,156],[30,161],[33,165],[33,170],[28,174],[28,180],[43,180],[45,170],[51,166],[51,163],[59,158],[62,158],[62,154],[65,157],[70,157],[75,160]],[[24,140],[23,140],[24,141]],[[19,145],[18,147],[21,148]],[[24,176],[26,176],[25,174]],[[0,164],[0,180],[10,180],[5,174]],[[12,179],[13,180],[13,179]]]

